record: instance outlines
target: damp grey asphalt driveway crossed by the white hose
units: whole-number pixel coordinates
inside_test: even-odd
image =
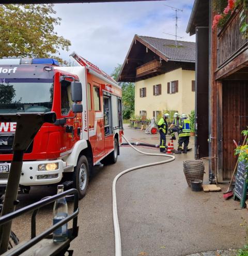
[[[147,135],[144,131],[125,128],[126,137],[133,142],[141,140],[156,144],[159,141],[158,134]],[[157,149],[140,149],[158,152]],[[182,162],[193,159],[193,152],[175,156],[173,162],[139,169],[118,180],[122,255],[187,255],[243,246],[245,227],[242,218],[247,220],[247,210],[239,209],[239,202],[223,200],[223,192],[192,191],[185,181]],[[141,155],[130,147],[122,146],[116,164],[95,168],[87,195],[79,203],[79,236],[71,243],[73,255],[115,254],[112,181],[127,168],[156,161],[161,161],[161,157]],[[207,177],[205,174],[206,180]],[[53,188],[33,188],[29,194],[19,195],[19,207],[54,193],[56,190]],[[43,208],[37,217],[38,232],[49,227],[52,218],[52,206]],[[13,231],[21,240],[28,239],[30,215],[15,220]]]

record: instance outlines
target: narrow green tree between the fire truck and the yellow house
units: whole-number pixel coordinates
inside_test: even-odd
[[[117,64],[111,76],[117,81],[119,73],[121,70],[121,65]],[[123,118],[129,119],[134,112],[134,91],[135,91],[135,84],[128,83],[128,82],[121,82],[118,83],[119,86],[122,88],[122,104],[123,104]]]

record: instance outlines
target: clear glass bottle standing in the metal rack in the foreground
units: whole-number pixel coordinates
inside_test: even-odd
[[[64,192],[64,185],[58,185],[58,194]],[[60,198],[54,203],[53,207],[53,224],[58,223],[60,220],[63,220],[68,215],[68,207],[66,198]],[[67,239],[67,223],[53,231],[53,242],[60,243]]]

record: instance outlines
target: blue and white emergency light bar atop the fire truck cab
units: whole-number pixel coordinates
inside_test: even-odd
[[[59,66],[56,59],[53,58],[21,58],[21,57],[4,57],[0,59],[0,65],[20,65],[20,64],[36,64],[36,65],[55,65]]]

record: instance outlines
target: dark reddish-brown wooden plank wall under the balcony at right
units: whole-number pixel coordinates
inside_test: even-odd
[[[233,140],[242,143],[241,131],[248,125],[248,81],[223,81],[223,179],[235,167]]]

